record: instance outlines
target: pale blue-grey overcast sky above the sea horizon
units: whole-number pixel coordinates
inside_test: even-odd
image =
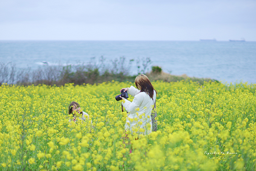
[[[0,40],[256,41],[256,0],[0,0]]]

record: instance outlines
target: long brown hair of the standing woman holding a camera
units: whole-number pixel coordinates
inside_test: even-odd
[[[148,77],[144,74],[138,75],[135,78],[135,85],[140,92],[147,93],[150,98],[153,98],[154,95],[154,87],[152,86],[151,82],[149,81]],[[156,90],[155,90],[156,91]],[[157,93],[157,91],[156,91]]]

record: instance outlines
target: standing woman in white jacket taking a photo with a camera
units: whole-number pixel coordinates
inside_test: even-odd
[[[130,130],[132,134],[146,135],[152,132],[152,121],[153,130],[157,128],[157,123],[154,121],[155,116],[153,116],[153,120],[151,118],[157,92],[144,74],[135,78],[135,85],[137,89],[131,86],[120,90],[120,92],[124,90],[124,92],[127,91],[128,94],[134,96],[132,102],[120,96],[123,99],[122,105],[129,112],[126,118],[125,130]]]

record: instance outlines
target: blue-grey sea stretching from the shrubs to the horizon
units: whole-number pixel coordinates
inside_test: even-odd
[[[150,58],[150,66],[164,72],[222,82],[256,83],[256,42],[228,41],[0,41],[2,62],[18,68],[87,63],[92,57],[106,61]]]

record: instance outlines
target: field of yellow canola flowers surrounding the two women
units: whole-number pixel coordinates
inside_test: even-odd
[[[124,131],[127,114],[115,100],[134,83],[3,84],[0,170],[256,170],[255,84],[152,84],[158,130],[147,136]],[[90,115],[87,122],[69,122],[71,101]]]

